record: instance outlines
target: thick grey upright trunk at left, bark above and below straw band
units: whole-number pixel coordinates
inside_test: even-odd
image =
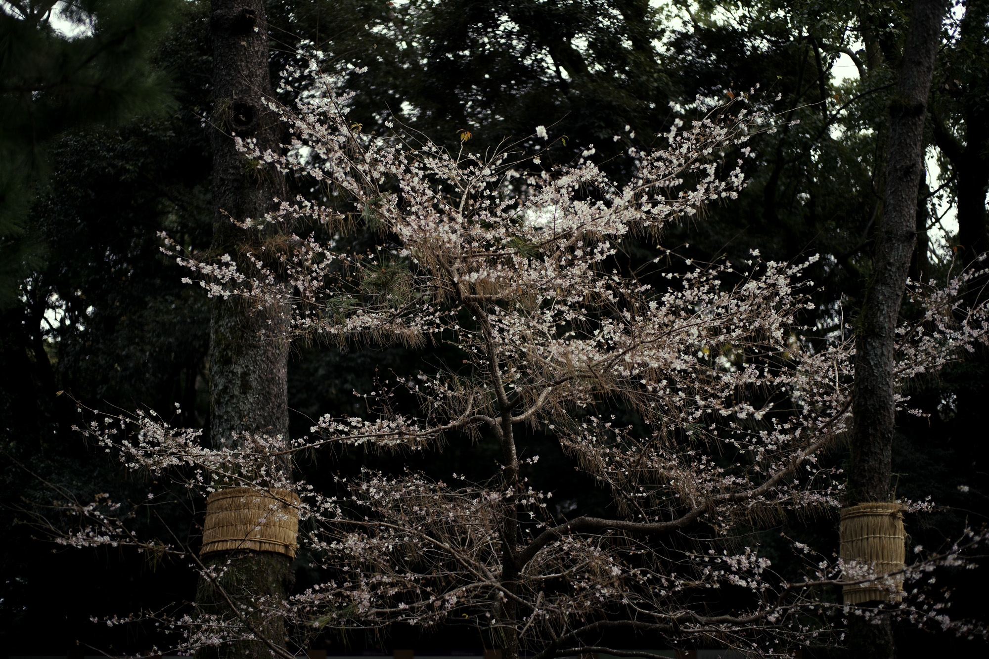
[[[244,254],[260,246],[264,235],[237,228],[232,220],[257,218],[285,197],[285,181],[271,169],[258,169],[234,147],[233,137],[253,138],[262,149],[279,148],[278,119],[261,103],[271,97],[268,32],[260,0],[213,0],[210,16],[213,45],[213,205],[214,257],[229,254],[249,271]],[[252,309],[242,300],[215,299],[210,333],[211,439],[215,446],[235,445],[241,433],[269,436],[288,433],[286,380],[288,344],[275,336],[269,322],[279,319]],[[266,329],[262,335],[262,329]],[[251,614],[261,600],[279,602],[291,587],[288,556],[236,551],[211,554],[203,562],[218,569],[231,561],[218,588],[201,580],[196,600],[200,612],[244,622],[230,611],[229,598],[245,605],[248,624],[263,641],[225,643],[201,650],[203,659],[269,658],[272,645],[285,647],[285,626],[277,615]],[[291,653],[288,653],[291,654]]]

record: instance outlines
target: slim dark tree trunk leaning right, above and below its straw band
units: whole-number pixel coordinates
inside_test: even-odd
[[[916,241],[917,191],[924,173],[924,123],[944,19],[944,0],[916,0],[890,107],[885,204],[871,280],[855,338],[854,427],[847,505],[890,499],[895,427],[894,339]],[[850,624],[856,658],[894,657],[888,618]]]

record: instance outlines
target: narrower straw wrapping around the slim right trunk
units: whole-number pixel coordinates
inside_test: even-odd
[[[859,504],[842,511],[842,559],[869,564],[876,575],[887,575],[903,569],[906,559],[906,531],[903,508],[899,504]],[[847,604],[861,604],[890,598],[903,599],[903,578],[892,577],[896,587],[877,582],[845,586],[842,592]]]

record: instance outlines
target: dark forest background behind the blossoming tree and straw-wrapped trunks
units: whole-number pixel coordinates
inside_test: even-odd
[[[125,473],[84,443],[72,430],[85,421],[76,402],[92,410],[149,408],[173,424],[209,428],[210,303],[202,289],[181,283],[186,273],[160,253],[156,237],[165,231],[192,249],[207,248],[212,237],[211,129],[203,119],[211,91],[209,3],[87,0],[76,7],[91,30],[73,39],[53,30],[44,7],[5,2],[0,14],[0,651],[10,654],[80,652],[77,640],[142,651],[154,642],[152,629],[109,629],[91,616],[181,605],[195,592],[195,575],[181,561],[63,549],[19,513],[25,502],[49,501],[59,490],[139,499],[165,487]],[[657,135],[669,129],[671,103],[689,114],[698,95],[728,99],[759,85],[761,102],[799,124],[753,142],[751,183],[739,200],[708,207],[662,242],[703,260],[742,258],[751,248],[773,260],[821,253],[810,273],[818,311],[807,319],[819,336],[854,331],[882,214],[890,83],[909,9],[897,0],[659,8],[644,0],[267,3],[273,79],[299,63],[299,48],[317,51],[320,64],[340,71],[356,92],[350,116],[365,132],[381,131],[394,116],[451,146],[458,131],[470,131],[467,147],[483,151],[545,125],[568,137],[548,162],[593,144],[618,180],[628,174],[622,156],[629,146],[664,143]],[[912,266],[925,280],[944,281],[987,245],[989,0],[959,4],[952,16],[929,122],[940,176],[922,186]],[[837,75],[843,53],[855,63],[851,78]],[[944,229],[948,208],[956,230]],[[628,267],[651,257],[650,249],[624,245]],[[896,492],[937,504],[933,514],[908,518],[913,543],[937,547],[966,522],[986,521],[987,357],[971,354],[906,392],[927,416],[898,420]],[[292,432],[305,434],[322,414],[360,414],[354,393],[370,391],[376,377],[413,374],[442,358],[435,350],[297,345]],[[181,414],[170,412],[175,404]],[[553,468],[563,461],[552,438],[528,441],[543,457],[528,475],[555,491],[561,513],[606,505],[592,482]],[[451,445],[410,465],[439,477],[471,474],[486,450]],[[845,449],[829,459],[844,462]],[[385,469],[405,464],[353,452],[300,460],[299,468],[319,485],[371,460]],[[141,523],[158,534],[166,523],[195,536],[202,502],[181,492],[174,502],[162,520]],[[790,519],[764,529],[760,541],[785,569],[787,557],[772,553],[773,537],[804,535],[837,551],[837,527],[837,515]],[[296,588],[315,579],[305,554],[294,567]],[[987,572],[946,575],[945,586],[956,589],[952,615],[986,619]],[[989,650],[981,640],[897,633],[905,657]],[[316,643],[388,652],[479,647],[476,634],[412,629]],[[651,646],[647,638],[625,643]]]

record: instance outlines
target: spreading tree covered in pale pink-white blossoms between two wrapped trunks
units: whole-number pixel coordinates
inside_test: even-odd
[[[401,127],[365,135],[332,77],[309,75],[317,84],[298,106],[276,108],[291,127],[286,155],[249,140],[239,148],[311,181],[325,201],[280,200],[276,212],[240,223],[262,236],[249,269],[228,254],[184,253],[163,236],[166,251],[210,295],[272,319],[267,340],[443,343],[457,361],[380,381],[366,394],[368,415],[327,415],[302,437],[246,432],[207,448],[198,430],[153,413],[100,415],[84,428],[126,467],[198,492],[235,485],[301,498],[282,497],[305,521],[299,541],[327,580],[287,601],[255,598],[250,611],[144,613],[180,633],[178,645],[251,638],[293,656],[256,622],[277,615],[300,643],[322,629],[404,622],[476,626],[511,659],[522,650],[539,659],[643,655],[602,644],[613,631],[785,654],[831,633],[822,616],[855,613],[829,588],[864,582],[889,590],[881,612],[981,633],[922,588],[937,566],[962,564],[980,533],[959,529],[953,546],[918,548],[915,563],[889,575],[797,541],[804,572],[782,575],[739,540],[781,516],[840,506],[843,476],[824,456],[852,421],[854,341],[805,327],[822,315],[801,275],[816,256],[695,263],[664,245],[663,230],[730,204],[745,185],[747,141],[778,118],[740,99],[677,120],[662,148],[629,149],[636,174],[619,185],[594,164],[592,146],[550,166],[545,127],[528,141],[539,149],[505,143],[483,155],[469,152],[469,135],[457,151]],[[378,232],[374,250],[345,239],[358,223]],[[616,256],[632,238],[653,241],[659,256],[621,266]],[[924,313],[898,329],[896,383],[986,340],[986,309],[956,302],[970,277],[912,284]],[[417,409],[396,404],[397,392]],[[532,432],[595,480],[613,516],[554,511],[553,492],[522,475],[524,463],[538,468],[525,450]],[[366,468],[318,492],[286,459],[453,442],[497,445],[487,480]],[[181,538],[138,537],[127,520],[134,510],[117,506],[64,504],[80,525],[48,528],[69,544],[185,556],[223,592],[223,565],[205,566]],[[898,602],[901,589],[908,596]],[[728,591],[731,610],[722,606]]]

